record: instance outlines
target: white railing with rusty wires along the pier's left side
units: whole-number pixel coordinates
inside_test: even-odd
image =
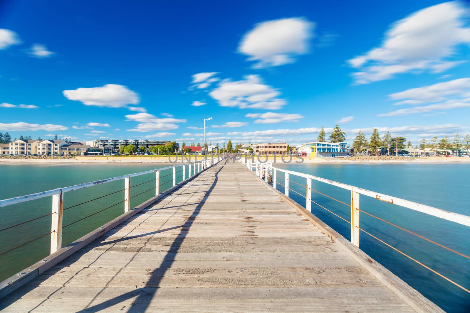
[[[172,166],[152,169],[152,170],[145,171],[145,172],[134,173],[134,174],[129,174],[129,175],[123,175],[123,176],[117,176],[117,177],[107,178],[107,179],[94,181],[94,182],[90,182],[90,183],[82,183],[82,184],[79,184],[79,185],[73,185],[73,186],[69,186],[69,187],[63,187],[63,188],[57,188],[57,189],[54,189],[54,190],[33,193],[33,194],[30,194],[30,195],[26,195],[26,196],[20,196],[20,197],[0,200],[0,209],[3,209],[4,207],[10,206],[10,205],[13,205],[13,204],[22,203],[22,202],[31,201],[31,200],[34,200],[34,199],[39,199],[39,198],[45,198],[45,197],[51,197],[52,196],[52,213],[47,214],[47,215],[51,215],[51,220],[52,220],[51,232],[50,232],[50,237],[51,237],[50,253],[52,254],[52,253],[58,251],[59,249],[61,249],[61,247],[62,247],[62,229],[63,229],[62,219],[63,219],[63,210],[64,210],[63,201],[64,201],[64,194],[66,192],[75,191],[75,190],[79,190],[79,189],[83,189],[83,188],[89,188],[89,187],[93,187],[93,186],[96,186],[96,185],[101,185],[101,184],[104,184],[104,183],[115,182],[115,181],[118,181],[118,180],[124,180],[124,189],[123,189],[123,191],[124,191],[124,200],[119,202],[118,204],[124,202],[124,213],[126,213],[131,209],[131,178],[132,177],[137,177],[137,176],[141,176],[141,175],[155,173],[155,179],[153,179],[153,180],[155,180],[155,187],[152,187],[149,191],[151,191],[153,188],[155,188],[155,196],[157,197],[160,193],[164,192],[164,191],[160,191],[160,180],[163,177],[163,176],[160,177],[160,172],[161,171],[166,170],[166,169],[172,169],[172,186],[174,187],[176,185],[176,178],[177,178],[176,173],[177,172],[178,173],[182,172],[182,175],[180,176],[180,177],[182,177],[182,181],[180,183],[183,183],[183,182],[187,181],[188,179],[190,179],[191,177],[195,176],[197,173],[204,170],[205,168],[209,168],[209,167],[211,167],[211,165],[216,164],[219,160],[221,160],[221,159],[217,158],[217,159],[213,159],[213,160],[211,160],[211,159],[200,160],[200,161],[196,161],[196,162],[193,162],[193,163],[175,164],[175,165],[172,165]],[[177,169],[179,169],[179,170],[177,171]],[[186,174],[186,171],[188,171],[188,174]],[[169,174],[169,175],[171,175],[171,174]],[[165,176],[169,176],[169,175],[165,175]],[[151,181],[149,181],[149,182],[151,182]],[[146,183],[149,183],[149,182],[146,182]],[[164,183],[168,183],[168,182],[164,182]],[[146,192],[148,192],[148,191],[146,191]],[[110,195],[115,194],[115,193],[116,192],[110,193]],[[102,198],[102,197],[103,196],[100,196],[98,198]],[[98,198],[96,198],[96,199],[98,199]],[[93,200],[95,200],[95,199],[93,199]],[[90,202],[90,201],[92,201],[92,200],[86,201],[84,203],[87,203],[87,202]],[[76,206],[78,206],[78,205],[76,205]],[[94,214],[96,214],[96,213],[94,213]],[[89,216],[91,216],[91,215],[89,215]],[[89,216],[87,216],[87,217],[89,217]],[[36,219],[33,219],[33,220],[36,220]],[[30,220],[30,221],[33,221],[33,220]],[[81,220],[83,220],[83,219],[81,219]],[[0,231],[1,230],[6,230],[6,229],[11,229],[15,226],[22,225],[26,222],[29,222],[29,221],[23,221],[23,222],[18,223],[16,225],[9,226],[5,229],[0,229]],[[68,225],[66,225],[66,226],[68,226]],[[48,235],[48,234],[46,234],[46,235]],[[39,238],[44,237],[46,235],[40,236],[36,239],[39,239]],[[36,240],[36,239],[34,239],[34,240]],[[33,241],[33,240],[31,240],[31,241]],[[27,243],[30,243],[31,241],[29,241]],[[20,245],[16,246],[16,248],[19,248],[23,245],[24,244],[20,244]],[[7,252],[13,251],[16,248],[10,249]],[[5,254],[5,253],[6,252],[1,252],[0,255]]]

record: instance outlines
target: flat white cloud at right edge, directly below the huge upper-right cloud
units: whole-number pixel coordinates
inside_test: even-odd
[[[403,92],[392,93],[388,96],[393,100],[405,99],[396,104],[437,102],[443,101],[449,96],[470,97],[470,78],[454,79],[444,83],[412,88]]]

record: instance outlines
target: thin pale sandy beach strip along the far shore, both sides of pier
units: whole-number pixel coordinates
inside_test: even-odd
[[[256,159],[255,159],[256,160]],[[470,163],[470,158],[446,158],[446,157],[433,157],[429,159],[419,160],[323,160],[323,159],[304,159],[302,163],[296,163],[297,159],[293,159],[292,162],[282,162],[282,160],[268,160],[268,162],[279,163],[279,164],[302,164],[302,163]],[[182,162],[170,162],[168,160],[75,160],[75,159],[34,159],[34,160],[21,160],[21,159],[0,159],[0,166],[7,164],[183,164]],[[188,162],[184,162],[188,163]]]

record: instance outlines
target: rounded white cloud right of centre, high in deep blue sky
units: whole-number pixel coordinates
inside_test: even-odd
[[[257,24],[243,36],[238,51],[258,61],[254,68],[294,63],[295,57],[308,53],[308,39],[314,23],[292,17]]]

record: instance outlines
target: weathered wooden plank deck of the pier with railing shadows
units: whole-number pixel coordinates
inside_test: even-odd
[[[0,301],[2,312],[414,312],[238,162]]]

